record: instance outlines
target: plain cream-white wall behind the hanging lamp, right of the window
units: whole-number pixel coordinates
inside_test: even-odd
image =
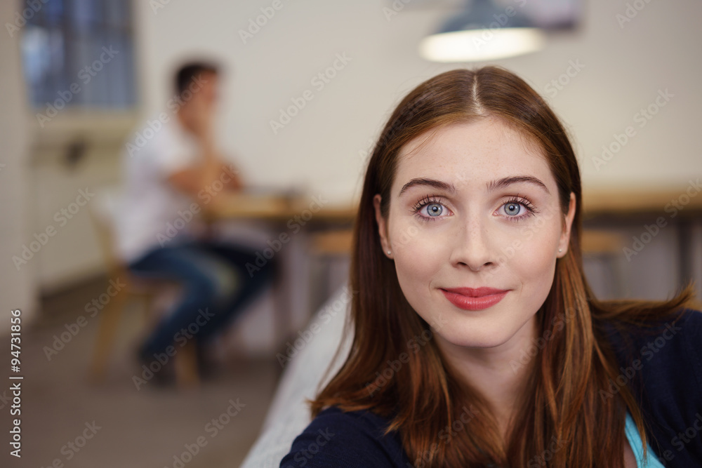
[[[206,51],[233,67],[223,138],[249,178],[265,185],[308,182],[312,191],[344,201],[357,195],[359,152],[399,98],[420,81],[460,66],[435,65],[416,53],[418,41],[446,11],[412,9],[409,2],[388,21],[383,7],[390,1],[282,0],[283,8],[243,44],[239,29],[271,3],[171,1],[154,13],[140,2],[146,109],[163,108],[171,67],[184,53]],[[695,137],[702,107],[702,4],[653,1],[620,27],[616,14],[625,13],[624,1],[583,3],[580,32],[554,36],[544,51],[497,63],[547,96],[553,92],[545,86],[567,72],[570,60],[584,65],[549,100],[574,133],[585,184],[684,185],[691,172],[702,173]],[[351,62],[315,91],[310,80],[336,53],[346,53]],[[313,100],[274,135],[269,121],[305,89],[313,91]],[[635,114],[665,89],[674,97],[639,128]],[[627,126],[635,126],[637,135],[597,171],[592,157]]]

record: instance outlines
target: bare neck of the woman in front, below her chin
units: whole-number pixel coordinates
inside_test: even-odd
[[[477,390],[489,403],[503,437],[509,432],[517,402],[527,387],[529,373],[534,369],[530,347],[535,346],[536,334],[534,316],[508,342],[497,347],[461,347],[437,336],[444,359],[463,382]]]

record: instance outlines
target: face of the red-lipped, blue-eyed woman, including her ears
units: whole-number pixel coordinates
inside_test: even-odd
[[[545,157],[498,119],[427,136],[399,153],[387,219],[375,199],[402,292],[439,345],[531,340],[556,259],[566,255],[574,194],[564,228]]]

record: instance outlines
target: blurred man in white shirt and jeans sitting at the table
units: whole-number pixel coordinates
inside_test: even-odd
[[[198,219],[224,189],[241,188],[237,171],[214,143],[218,75],[207,63],[180,67],[170,112],[149,121],[126,147],[118,251],[133,273],[175,280],[183,289],[139,351],[146,364],[190,340],[201,348],[271,276],[270,263],[249,275],[244,265],[256,261],[255,253],[207,239]]]

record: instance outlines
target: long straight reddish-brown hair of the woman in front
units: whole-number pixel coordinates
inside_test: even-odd
[[[387,218],[397,154],[418,135],[451,123],[492,116],[537,145],[548,160],[565,213],[576,213],[567,254],[537,312],[543,346],[526,365],[531,377],[507,440],[486,400],[459,385],[432,340],[432,328],[406,301],[395,264],[382,253],[373,196]],[[691,285],[671,300],[599,301],[585,281],[581,253],[581,179],[567,132],[527,83],[498,67],[457,69],[420,84],[392,113],[366,170],[355,223],[350,281],[354,295],[349,355],[312,401],[371,410],[388,417],[416,467],[622,467],[628,410],[646,446],[644,421],[626,388],[611,398],[600,390],[616,380],[618,364],[605,336],[607,324],[644,325],[673,316]]]

